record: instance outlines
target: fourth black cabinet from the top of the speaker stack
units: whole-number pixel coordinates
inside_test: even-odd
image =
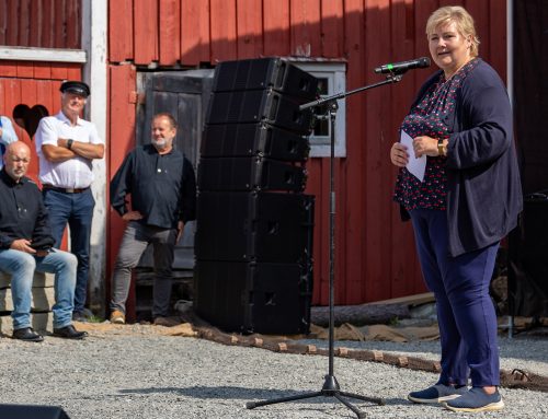
[[[292,190],[302,191],[305,168],[262,158],[201,159],[199,190]]]

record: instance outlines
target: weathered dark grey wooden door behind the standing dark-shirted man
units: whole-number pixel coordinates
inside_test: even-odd
[[[197,173],[204,118],[209,101],[214,70],[138,72],[136,144],[150,142],[150,123],[155,114],[169,112],[178,121],[175,148],[182,150]],[[175,248],[172,302],[192,298],[195,222],[189,222]],[[152,304],[153,263],[151,246],[136,269],[136,316],[146,318]]]

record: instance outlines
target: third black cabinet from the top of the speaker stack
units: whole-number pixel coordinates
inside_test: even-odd
[[[269,124],[206,125],[202,137],[203,158],[262,155],[288,162],[308,159],[308,138]]]

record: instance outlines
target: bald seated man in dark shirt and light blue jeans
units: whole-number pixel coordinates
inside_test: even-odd
[[[82,339],[72,326],[76,256],[53,248],[46,208],[36,184],[25,177],[31,150],[21,141],[7,147],[0,172],[0,270],[11,275],[13,338],[42,341],[31,327],[34,271],[55,273],[54,336]]]

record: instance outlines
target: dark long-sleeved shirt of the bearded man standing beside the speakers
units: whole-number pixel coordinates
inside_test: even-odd
[[[196,217],[194,168],[175,149],[167,154],[152,144],[133,150],[111,181],[111,205],[121,216],[128,212],[126,195],[148,225],[174,229]]]

